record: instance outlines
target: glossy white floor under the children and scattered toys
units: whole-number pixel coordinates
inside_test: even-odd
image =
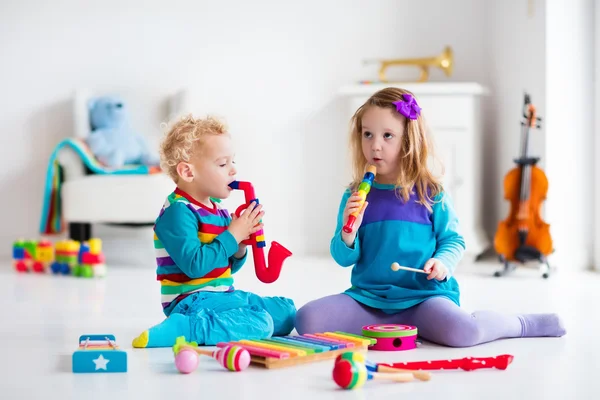
[[[250,264],[251,266],[251,264]],[[290,258],[280,279],[261,284],[251,268],[236,285],[261,295],[284,294],[300,307],[347,286],[349,270],[328,260]],[[190,375],[177,372],[170,348],[132,349],[131,340],[162,319],[154,268],[109,266],[104,280],[19,275],[0,267],[0,398],[2,399],[598,399],[600,379],[600,274],[559,271],[549,280],[517,270],[493,278],[497,264],[463,266],[463,306],[510,313],[559,312],[565,337],[511,339],[466,349],[424,343],[407,352],[369,352],[374,361],[515,356],[508,370],[436,372],[429,382],[370,381],[360,390],[338,389],[332,362],[281,370],[223,370],[203,357]],[[124,374],[73,374],[71,356],[81,334],[112,333],[128,353]],[[402,397],[404,396],[404,397]],[[391,397],[388,397],[391,398]]]

